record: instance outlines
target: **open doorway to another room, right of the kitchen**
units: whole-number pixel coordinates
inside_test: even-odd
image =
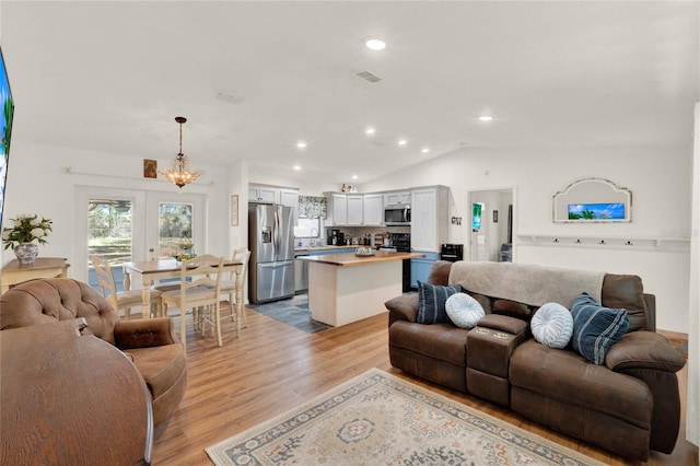
[[[467,193],[471,261],[512,261],[515,188],[481,189]]]

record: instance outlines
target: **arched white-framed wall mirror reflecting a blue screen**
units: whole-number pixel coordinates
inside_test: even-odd
[[[552,199],[552,220],[559,223],[632,221],[632,191],[605,178],[573,182]]]

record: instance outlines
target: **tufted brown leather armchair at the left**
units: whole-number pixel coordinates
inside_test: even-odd
[[[170,418],[185,395],[187,358],[168,317],[119,321],[88,283],[69,278],[31,280],[0,296],[0,330],[83,317],[91,333],[127,353],[153,399],[153,423]]]

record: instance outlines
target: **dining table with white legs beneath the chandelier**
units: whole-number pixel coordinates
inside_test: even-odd
[[[197,264],[192,264],[195,268]],[[233,271],[235,280],[235,310],[236,313],[236,336],[241,336],[241,318],[243,317],[243,267],[244,264],[236,260],[224,260],[222,273]],[[167,278],[180,278],[182,263],[175,258],[161,258],[156,260],[124,263],[124,288],[131,289],[131,283],[141,279],[142,292],[141,301],[143,305],[143,318],[151,315],[151,286],[158,280]],[[233,303],[231,306],[233,307]]]

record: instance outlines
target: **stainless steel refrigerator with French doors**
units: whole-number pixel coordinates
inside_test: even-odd
[[[250,302],[258,304],[294,295],[294,219],[292,208],[248,206]]]

